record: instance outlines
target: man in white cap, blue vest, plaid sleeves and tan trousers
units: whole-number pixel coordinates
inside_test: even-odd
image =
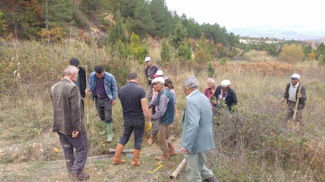
[[[162,150],[162,155],[157,156],[157,160],[167,160],[177,154],[173,143],[169,140],[171,124],[174,122],[174,97],[172,92],[164,86],[165,79],[156,77],[152,80],[154,91],[158,92],[156,99],[152,100],[148,107],[158,106],[155,114],[150,119],[159,122],[158,143]]]

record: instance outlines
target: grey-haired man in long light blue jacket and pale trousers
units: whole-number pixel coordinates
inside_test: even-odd
[[[188,182],[217,182],[213,172],[204,165],[206,152],[214,149],[212,108],[209,99],[198,89],[198,81],[188,76],[183,81],[186,107],[182,120],[181,151],[187,159]]]

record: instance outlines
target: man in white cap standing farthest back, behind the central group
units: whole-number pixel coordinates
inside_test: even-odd
[[[146,75],[146,79],[148,80],[148,100],[150,102],[152,98],[152,86],[153,86],[151,81],[152,79],[155,78],[154,77],[155,73],[160,69],[156,64],[152,63],[150,57],[146,57],[145,62],[146,62],[145,75]]]

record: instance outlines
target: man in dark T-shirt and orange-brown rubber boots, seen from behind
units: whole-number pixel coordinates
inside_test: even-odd
[[[124,133],[116,146],[112,162],[113,164],[125,163],[125,160],[121,160],[121,155],[133,131],[134,151],[131,167],[136,167],[140,165],[139,156],[145,133],[145,118],[149,124],[151,122],[149,109],[146,104],[146,91],[138,85],[138,75],[136,73],[128,74],[127,81],[128,83],[121,87],[118,92],[118,98],[120,98],[123,109]]]

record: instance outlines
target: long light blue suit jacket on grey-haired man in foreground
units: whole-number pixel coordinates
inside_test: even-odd
[[[215,148],[211,103],[200,91],[195,91],[186,101],[182,126],[181,147],[189,153],[202,153]]]

